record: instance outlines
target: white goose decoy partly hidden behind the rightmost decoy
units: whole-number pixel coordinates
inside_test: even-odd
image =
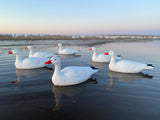
[[[104,55],[104,53],[97,54],[97,49],[96,47],[92,47],[89,50],[93,51],[93,56],[92,56],[92,61],[93,62],[110,62],[111,56],[109,55]],[[120,56],[117,56],[116,59],[121,59]]]

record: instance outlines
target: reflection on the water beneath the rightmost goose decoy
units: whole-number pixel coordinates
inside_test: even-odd
[[[144,73],[131,73],[131,74],[126,74],[126,73],[119,73],[119,72],[112,72],[109,71],[108,73],[110,77],[110,84],[107,85],[107,89],[111,90],[111,88],[114,86],[114,81],[118,80],[120,82],[131,82],[134,80],[144,80],[146,79],[152,79],[153,76],[150,76],[148,74]]]

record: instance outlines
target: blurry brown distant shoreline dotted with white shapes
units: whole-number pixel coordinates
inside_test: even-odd
[[[0,40],[160,40],[160,35],[0,35]]]

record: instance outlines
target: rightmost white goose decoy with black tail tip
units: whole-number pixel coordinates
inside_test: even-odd
[[[144,64],[130,60],[116,61],[115,59],[116,54],[114,51],[109,51],[105,53],[105,55],[111,56],[111,61],[109,63],[109,69],[111,71],[121,72],[121,73],[139,73],[142,70],[154,68],[152,64]]]

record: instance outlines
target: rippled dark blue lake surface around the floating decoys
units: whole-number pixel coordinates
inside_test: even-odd
[[[81,50],[80,56],[60,56],[66,66],[96,66],[93,79],[75,86],[56,87],[51,82],[54,65],[20,70],[14,66],[12,49],[28,56],[34,51],[57,53],[56,44]],[[151,63],[142,74],[111,72],[107,63],[92,63],[92,52],[114,50],[124,59]],[[0,41],[0,120],[159,120],[160,40],[110,42],[106,40]],[[145,74],[145,75],[144,75]]]

